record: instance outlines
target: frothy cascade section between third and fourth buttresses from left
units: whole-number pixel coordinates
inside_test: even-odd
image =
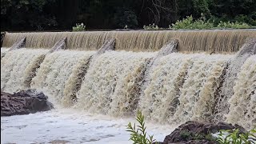
[[[93,113],[108,114],[117,105],[118,109],[131,105],[127,101],[132,97],[129,86],[134,84],[134,78],[140,74],[139,69],[145,67],[154,54],[110,51],[100,55],[90,63],[81,90],[78,91],[77,107]],[[126,101],[118,102],[121,99]],[[122,110],[118,111],[122,113]]]

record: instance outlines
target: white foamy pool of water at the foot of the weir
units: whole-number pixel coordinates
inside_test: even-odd
[[[1,143],[132,143],[126,132],[128,122],[134,122],[134,118],[110,118],[64,109],[2,117]],[[150,122],[146,126],[158,141],[174,130]]]

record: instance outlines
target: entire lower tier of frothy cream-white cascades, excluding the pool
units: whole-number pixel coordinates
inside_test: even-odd
[[[93,51],[46,52],[6,51],[1,61],[1,89],[13,93],[30,88],[31,70],[42,62],[31,88],[42,90],[52,102],[113,116],[134,115],[139,109],[150,120],[172,124],[214,118],[220,77],[234,56],[174,53],[147,67],[156,53],[109,51],[90,62]],[[255,55],[247,59],[238,73],[227,115],[227,122],[246,128],[255,123],[255,59]],[[150,70],[148,75],[146,70]]]

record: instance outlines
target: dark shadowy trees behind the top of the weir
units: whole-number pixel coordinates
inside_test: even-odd
[[[203,14],[214,22],[256,25],[256,0],[1,0],[1,30],[71,30],[167,27]]]

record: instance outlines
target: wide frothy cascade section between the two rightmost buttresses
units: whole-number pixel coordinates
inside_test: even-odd
[[[209,121],[214,90],[229,55],[170,54],[150,71],[142,113],[158,122]]]

